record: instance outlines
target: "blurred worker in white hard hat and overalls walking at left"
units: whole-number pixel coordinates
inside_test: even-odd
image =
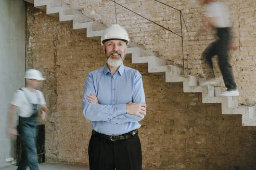
[[[22,152],[17,170],[25,170],[28,166],[31,170],[37,170],[39,169],[35,146],[37,114],[41,109],[42,120],[46,120],[48,108],[43,93],[36,89],[45,78],[36,69],[28,69],[24,78],[27,86],[17,90],[10,102],[8,131],[12,139],[15,139],[16,135],[20,136]],[[14,123],[16,112],[19,114],[18,132]]]

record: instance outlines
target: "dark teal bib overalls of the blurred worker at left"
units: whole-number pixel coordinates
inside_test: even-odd
[[[33,115],[29,118],[19,117],[19,135],[21,144],[21,159],[17,170],[38,170],[36,153],[36,125],[37,125],[37,104],[33,105]]]

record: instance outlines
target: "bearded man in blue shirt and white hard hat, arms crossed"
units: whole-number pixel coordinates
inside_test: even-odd
[[[83,95],[83,115],[92,123],[89,168],[142,169],[138,121],[146,115],[142,75],[123,65],[129,36],[120,25],[101,36],[107,64],[88,74]]]

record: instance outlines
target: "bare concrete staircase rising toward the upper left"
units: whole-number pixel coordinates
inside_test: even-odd
[[[92,18],[82,16],[79,11],[71,9],[68,5],[62,4],[61,0],[23,0],[33,3],[36,8],[46,11],[47,15],[59,17],[60,22],[67,22],[73,25],[74,30],[86,33],[86,36],[100,40],[106,26],[93,21]],[[155,53],[138,47],[136,44],[129,44],[127,53],[132,54],[132,63],[148,63],[149,73],[165,73],[166,82],[183,82],[183,91],[186,93],[202,93],[202,103],[221,103],[222,114],[242,115],[242,125],[256,125],[256,107],[239,106],[238,97],[221,97],[221,87],[199,86],[203,78],[184,75],[180,67],[169,65],[165,59],[158,58]]]

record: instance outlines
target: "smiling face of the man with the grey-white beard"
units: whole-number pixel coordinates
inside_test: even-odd
[[[119,39],[109,40],[104,43],[103,51],[107,58],[108,65],[118,67],[123,63],[127,46],[126,43]]]

